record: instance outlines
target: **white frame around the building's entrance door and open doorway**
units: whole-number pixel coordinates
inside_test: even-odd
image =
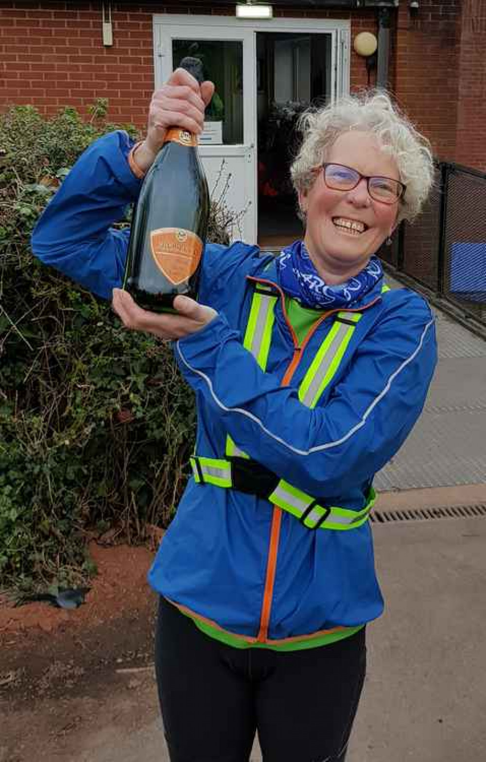
[[[223,146],[228,156],[244,149],[245,184],[249,191],[249,202],[253,206],[250,224],[246,225],[248,243],[255,243],[257,238],[257,171],[256,171],[256,32],[287,32],[309,34],[331,34],[331,99],[349,93],[349,39],[351,22],[349,20],[273,18],[268,21],[237,19],[232,16],[192,15],[192,14],[154,14],[153,15],[153,56],[155,88],[164,82],[164,59],[172,56],[166,50],[164,26],[179,27],[181,34],[187,37],[206,39],[243,40],[243,50],[249,50],[248,60],[243,58],[243,92],[245,98],[243,118],[243,146]],[[204,155],[219,155],[221,146],[203,146]]]

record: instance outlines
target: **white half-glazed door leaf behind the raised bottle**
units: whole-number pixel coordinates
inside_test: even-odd
[[[206,21],[206,18],[204,18]],[[210,21],[210,19],[208,19]],[[156,88],[185,56],[196,56],[215,91],[199,138],[211,194],[234,219],[232,239],[256,242],[256,83],[254,36],[241,27],[211,27],[193,19],[156,24]]]

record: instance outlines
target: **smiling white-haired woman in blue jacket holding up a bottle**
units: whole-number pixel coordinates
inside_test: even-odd
[[[156,673],[172,762],[343,762],[383,610],[373,476],[417,421],[436,364],[433,315],[388,290],[375,252],[430,190],[427,142],[383,94],[307,114],[291,168],[304,240],[278,256],[208,244],[199,303],[154,315],[119,290],[134,202],[166,128],[201,132],[212,85],[178,69],[146,139],[82,155],[34,253],[124,325],[178,339],[195,389],[193,478],[150,570]],[[170,188],[167,188],[170,193]]]

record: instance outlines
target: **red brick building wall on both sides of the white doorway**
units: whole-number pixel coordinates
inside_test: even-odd
[[[486,0],[419,2],[415,16],[407,0],[391,11],[391,91],[431,139],[436,155],[486,168]],[[100,6],[98,0],[0,0],[0,109],[34,104],[53,114],[72,105],[87,114],[101,97],[109,99],[111,120],[143,128],[154,86],[153,13],[182,7],[176,0],[170,5],[113,2],[114,45],[105,48]],[[211,13],[211,8],[195,5],[192,11]],[[226,12],[233,14],[233,3]],[[296,14],[276,9],[276,15]],[[351,18],[352,39],[363,30],[378,34],[372,9],[301,15]],[[366,81],[365,61],[352,50],[351,88]]]

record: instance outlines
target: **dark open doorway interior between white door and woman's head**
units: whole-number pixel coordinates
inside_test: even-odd
[[[298,119],[331,99],[332,35],[256,33],[258,243],[279,249],[303,235],[289,168]]]

